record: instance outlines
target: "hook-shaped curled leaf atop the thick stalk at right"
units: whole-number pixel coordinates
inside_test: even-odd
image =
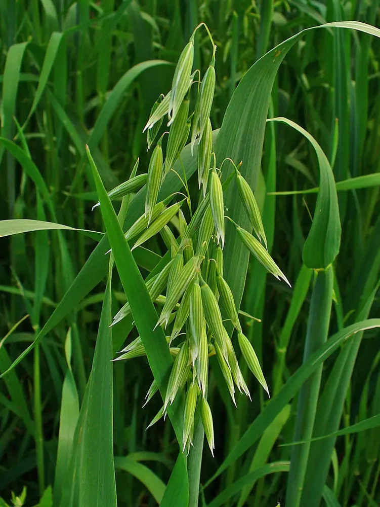
[[[269,121],[285,123],[298,130],[311,142],[317,154],[320,173],[319,192],[313,224],[305,241],[302,257],[308,268],[326,268],[339,252],[342,234],[335,180],[330,164],[314,137],[300,125],[286,118],[272,118]]]

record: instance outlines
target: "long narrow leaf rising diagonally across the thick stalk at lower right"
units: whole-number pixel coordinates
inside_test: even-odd
[[[287,403],[297,394],[304,382],[310,375],[323,364],[323,362],[352,335],[367,329],[379,328],[380,319],[368,319],[357,322],[334,334],[318,350],[316,350],[298,370],[295,372],[280,390],[273,397],[263,412],[250,424],[248,429],[240,438],[237,445],[232,449],[227,458],[218,468],[214,476],[206,483],[212,483],[228,466],[234,463],[244,452],[246,452],[258,440],[268,425],[281,412]]]

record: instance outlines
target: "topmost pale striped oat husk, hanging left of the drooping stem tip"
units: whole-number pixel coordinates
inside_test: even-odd
[[[174,72],[172,93],[169,103],[169,118],[168,125],[175,120],[183,99],[191,86],[191,70],[193,67],[194,59],[194,40],[191,38],[190,42],[184,47],[180,58],[178,60],[176,70]]]

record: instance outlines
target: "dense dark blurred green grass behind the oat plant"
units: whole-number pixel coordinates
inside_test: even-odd
[[[91,211],[97,197],[85,162],[85,144],[89,143],[107,190],[129,177],[138,157],[139,170],[146,172],[149,154],[142,129],[154,101],[170,89],[174,65],[143,62],[177,62],[200,21],[207,23],[217,45],[211,114],[217,129],[239,80],[267,50],[304,28],[328,21],[355,19],[378,26],[379,4],[378,0],[3,0],[1,135],[21,147],[27,160],[20,163],[12,147],[0,144],[1,218],[48,220],[101,231],[101,215]],[[196,36],[194,65],[202,74],[210,56],[210,45],[201,32]],[[285,116],[308,130],[326,153],[337,182],[380,172],[379,62],[377,38],[323,29],[306,32],[280,66],[270,116]],[[273,210],[272,255],[293,289],[265,278],[252,262],[241,309],[262,319],[246,318],[244,325],[270,390],[276,394],[302,364],[313,276],[311,270],[302,268],[302,248],[315,194],[274,197],[267,195],[267,186],[279,192],[317,187],[319,170],[312,147],[297,132],[281,124],[269,124],[267,130],[256,197],[264,223],[265,210]],[[273,135],[275,187],[273,181],[268,182]],[[30,160],[40,176],[33,173]],[[50,202],[41,191],[39,177],[47,186]],[[191,185],[196,183],[191,181]],[[378,197],[378,186],[339,192],[343,235],[334,264],[330,334],[365,313],[363,307],[371,294],[374,299],[367,314],[379,313]],[[34,340],[96,243],[75,232],[40,231],[2,239],[1,244],[3,373]],[[149,246],[162,252],[159,241],[152,240]],[[262,279],[259,285],[258,277]],[[20,494],[26,486],[26,504],[34,505],[54,482],[67,372],[66,335],[70,329],[72,371],[80,402],[91,370],[104,290],[104,281],[97,284],[40,342],[38,353],[26,356],[0,383],[0,495],[8,503],[11,491]],[[115,314],[125,302],[116,277],[112,301]],[[20,322],[25,315],[28,317]],[[120,340],[120,336],[118,343],[126,338]],[[337,410],[335,429],[380,412],[378,338],[376,330],[365,335],[352,365],[341,363],[341,377],[330,375],[337,353],[324,364],[322,387],[331,389],[327,379],[333,378],[339,378],[343,386],[342,407],[331,407]],[[151,460],[140,471],[147,474],[145,479],[132,466],[129,471],[118,468],[116,461],[120,506],[156,504],[149,472],[166,482],[176,457],[177,444],[167,421],[145,431],[160,408],[159,400],[153,399],[141,409],[151,381],[144,359],[114,365],[115,456],[129,455],[139,464]],[[201,483],[213,475],[268,403],[254,380],[250,382],[252,402],[238,396],[234,409],[226,391],[218,389],[217,373],[210,377],[216,457],[205,450]],[[237,460],[204,491],[205,502],[249,470],[289,459],[290,448],[279,444],[293,440],[296,408],[297,399],[281,412],[266,440],[252,446],[244,460]],[[323,406],[319,409],[323,413]],[[336,440],[322,502],[371,507],[380,503],[379,442],[378,429]],[[154,454],[138,457],[137,453],[146,451]],[[317,468],[318,461],[313,466]],[[240,505],[274,507],[277,501],[283,504],[285,490],[285,473],[267,475],[252,481],[240,496]],[[331,491],[339,503],[328,503]],[[236,504],[240,493],[224,504]]]

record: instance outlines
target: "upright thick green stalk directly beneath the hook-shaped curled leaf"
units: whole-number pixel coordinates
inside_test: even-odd
[[[332,287],[332,267],[329,266],[326,270],[318,271],[310,303],[303,363],[327,340]],[[320,366],[300,390],[293,437],[295,442],[310,440],[312,438],[322,368],[323,366]],[[286,505],[291,505],[292,507],[299,507],[301,505],[310,445],[310,442],[297,445],[291,450]]]

